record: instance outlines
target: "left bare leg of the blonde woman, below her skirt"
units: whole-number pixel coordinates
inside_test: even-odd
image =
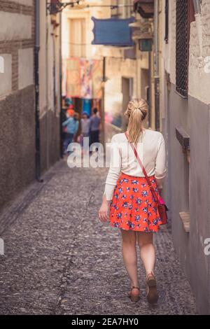
[[[137,274],[137,232],[121,230],[123,239],[123,260],[127,269],[127,274],[130,276],[131,285],[138,287],[138,274]],[[137,290],[137,289],[134,289]],[[137,290],[139,293],[139,290]]]

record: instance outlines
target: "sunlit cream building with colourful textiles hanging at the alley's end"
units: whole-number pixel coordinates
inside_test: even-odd
[[[103,57],[99,52],[101,46],[92,44],[92,17],[102,18],[110,12],[110,8],[102,8],[104,3],[80,1],[73,7],[66,6],[62,12],[63,96],[71,98],[79,117],[83,112],[91,116],[92,109],[98,109],[102,118],[101,141],[104,141]]]

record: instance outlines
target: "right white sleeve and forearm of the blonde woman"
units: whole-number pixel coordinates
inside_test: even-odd
[[[158,181],[158,187],[162,188],[162,179],[167,174],[166,167],[166,150],[165,150],[165,139],[162,135],[160,139],[160,145],[158,147],[158,154],[155,160],[155,179]]]

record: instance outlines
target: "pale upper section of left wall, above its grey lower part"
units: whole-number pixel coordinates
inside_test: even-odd
[[[33,0],[13,2],[25,6],[15,6],[14,12],[7,3],[0,8],[0,56],[4,62],[4,73],[0,73],[0,97],[34,83]]]

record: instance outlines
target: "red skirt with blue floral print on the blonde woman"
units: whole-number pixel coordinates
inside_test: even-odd
[[[159,195],[155,175],[149,179]],[[145,177],[121,173],[113,191],[109,218],[113,228],[139,232],[158,231],[162,221]]]

